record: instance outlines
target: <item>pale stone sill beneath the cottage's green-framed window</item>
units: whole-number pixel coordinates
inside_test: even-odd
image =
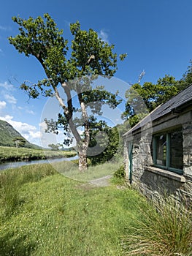
[[[153,167],[153,166],[150,166],[150,167],[149,166],[145,166],[145,170],[148,170],[151,173],[155,173],[155,174],[164,176],[166,178],[172,178],[175,181],[180,181],[180,182],[185,183],[185,177],[184,176],[179,175],[177,173],[172,173],[169,170],[163,170],[163,169],[160,169],[160,168],[157,168],[157,167]]]

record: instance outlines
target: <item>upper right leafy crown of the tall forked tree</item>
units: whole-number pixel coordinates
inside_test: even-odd
[[[69,70],[71,80],[84,75],[114,75],[117,69],[117,54],[112,53],[114,45],[109,45],[98,37],[96,31],[82,31],[80,23],[70,26],[72,40],[72,58]]]

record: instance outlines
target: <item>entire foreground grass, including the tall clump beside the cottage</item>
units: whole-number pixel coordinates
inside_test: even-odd
[[[74,165],[61,166],[74,177]],[[48,164],[0,173],[2,256],[190,256],[191,230],[191,212],[175,201],[154,206],[133,189],[93,187]]]

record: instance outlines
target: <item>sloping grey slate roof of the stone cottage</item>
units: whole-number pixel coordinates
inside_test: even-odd
[[[192,105],[192,84],[183,91],[180,91],[178,94],[174,95],[174,97],[169,99],[164,104],[158,106],[158,108],[155,108],[155,110],[153,110],[149,115],[139,121],[138,124],[128,130],[123,137],[126,137],[137,129],[144,127],[149,122],[155,121],[166,114],[172,113],[173,111],[177,113],[177,111],[182,110],[188,105]]]

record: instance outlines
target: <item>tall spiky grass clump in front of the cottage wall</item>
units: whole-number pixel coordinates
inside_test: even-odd
[[[192,213],[172,197],[161,197],[123,237],[126,255],[192,255]]]

